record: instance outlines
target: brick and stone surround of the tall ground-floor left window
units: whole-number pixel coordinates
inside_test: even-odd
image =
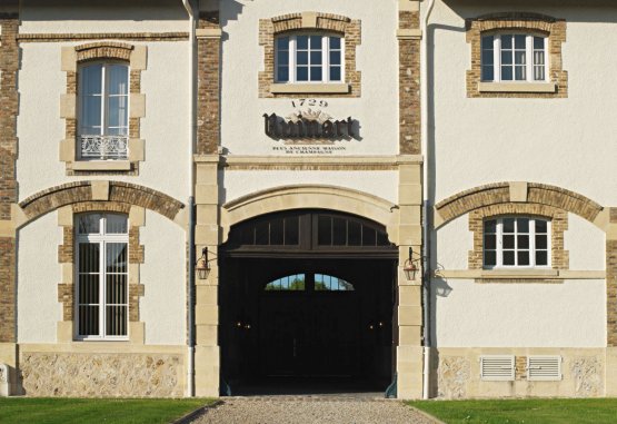
[[[62,304],[62,321],[57,324],[58,343],[101,343],[78,341],[74,336],[74,218],[83,213],[120,213],[129,218],[129,339],[103,341],[142,345],[145,323],[139,321],[139,297],[145,294],[140,284],[140,264],[143,264],[145,248],[139,245],[139,228],[146,225],[146,209],[119,201],[84,201],[58,209],[58,226],[62,227],[63,243],[58,246],[58,262],[62,268],[62,283],[58,285],[58,302]]]

